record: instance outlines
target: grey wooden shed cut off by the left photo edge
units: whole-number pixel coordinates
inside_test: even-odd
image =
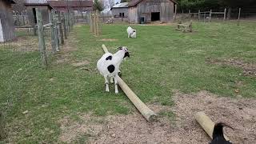
[[[0,42],[7,42],[15,38],[14,19],[11,10],[13,0],[0,0]]]

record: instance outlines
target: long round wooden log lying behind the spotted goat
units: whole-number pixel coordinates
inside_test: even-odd
[[[105,45],[102,45],[102,49],[105,53],[108,52]],[[143,103],[136,94],[134,94],[133,90],[130,89],[129,86],[126,85],[126,82],[122,80],[119,76],[117,76],[118,85],[121,87],[122,91],[126,94],[126,96],[133,102],[134,106],[138,109],[138,111],[146,118],[147,121],[153,122],[157,120],[157,115],[154,114],[153,110],[150,110],[145,103]]]

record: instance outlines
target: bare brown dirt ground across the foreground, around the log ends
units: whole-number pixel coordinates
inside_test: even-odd
[[[226,122],[234,128],[225,130],[232,142],[256,143],[256,99],[220,98],[201,91],[177,93],[173,100],[172,107],[149,106],[156,113],[173,111],[172,122],[166,117],[146,122],[138,111],[104,118],[80,114],[81,122],[68,117],[59,121],[62,129],[59,141],[71,143],[86,136],[89,143],[208,143],[210,138],[194,120],[196,112],[204,111],[214,122]]]

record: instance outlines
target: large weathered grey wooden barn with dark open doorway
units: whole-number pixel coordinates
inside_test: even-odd
[[[128,4],[129,22],[171,22],[175,4],[174,0],[132,0]]]

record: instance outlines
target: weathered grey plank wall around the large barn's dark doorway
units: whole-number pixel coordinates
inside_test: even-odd
[[[139,22],[139,18],[144,17],[146,22],[151,22],[151,13],[160,12],[161,22],[170,22],[173,19],[174,14],[174,2],[170,0],[144,0],[138,3],[137,6],[129,7],[129,13],[134,8],[137,8],[137,16],[129,14],[130,19],[135,19],[135,22]]]

